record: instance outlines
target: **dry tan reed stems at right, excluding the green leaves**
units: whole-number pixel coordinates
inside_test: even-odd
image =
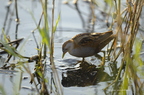
[[[104,90],[106,90],[109,86],[111,86],[112,84],[116,83],[119,80],[122,68],[125,64],[126,71],[124,73],[126,74],[127,77],[131,78],[134,81],[136,92],[140,91],[141,93],[140,87],[143,87],[142,82],[140,81],[140,78],[137,76],[137,72],[135,71],[134,69],[135,67],[133,65],[134,64],[133,59],[131,57],[132,57],[133,44],[139,29],[139,17],[141,15],[144,0],[134,0],[134,2],[127,0],[126,2],[127,8],[125,8],[122,12],[121,12],[120,0],[118,1],[114,0],[114,1],[117,13],[116,35],[117,36],[120,35],[120,43],[121,43],[121,48],[118,51],[118,53],[114,51],[114,53],[116,54],[114,61],[117,60],[120,54],[123,55],[123,59],[116,79]],[[115,41],[117,42],[118,40],[115,39]]]

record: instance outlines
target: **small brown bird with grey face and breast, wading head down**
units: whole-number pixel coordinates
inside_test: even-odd
[[[115,38],[113,31],[103,33],[81,33],[62,45],[62,58],[68,52],[75,57],[90,57],[99,53],[111,40]]]

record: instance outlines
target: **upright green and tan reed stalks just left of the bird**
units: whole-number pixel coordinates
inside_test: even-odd
[[[58,22],[60,20],[60,15],[58,16],[58,19],[56,20],[56,23],[54,24],[54,10],[55,10],[55,0],[53,0],[52,2],[52,5],[53,5],[53,8],[52,8],[52,13],[51,13],[51,17],[52,17],[52,26],[50,27],[49,24],[48,24],[48,12],[47,12],[47,9],[48,9],[48,0],[41,0],[41,6],[42,6],[42,9],[43,9],[43,12],[42,12],[42,16],[39,20],[39,24],[37,26],[37,29],[39,30],[39,33],[41,35],[41,38],[42,38],[42,48],[40,49],[41,52],[39,52],[40,56],[43,55],[43,58],[46,58],[47,56],[47,51],[49,51],[49,55],[50,55],[50,65],[51,65],[51,69],[52,69],[52,78],[54,79],[53,81],[53,84],[51,85],[55,85],[55,89],[56,89],[56,92],[57,94],[59,95],[62,95],[63,94],[63,91],[62,91],[62,87],[61,87],[61,84],[60,84],[60,80],[59,80],[59,76],[58,76],[58,72],[55,68],[55,63],[54,63],[54,57],[53,57],[53,53],[54,53],[54,33],[56,31],[56,28],[57,28],[57,25],[58,25]],[[42,19],[43,18],[43,19]],[[43,23],[43,27],[41,28],[40,27],[40,23],[41,23],[41,20],[44,21]],[[51,29],[51,30],[50,30]],[[47,47],[49,50],[47,50]],[[43,54],[42,54],[42,50],[43,50]],[[42,57],[41,57],[42,58]],[[38,70],[38,77],[40,79],[42,79],[42,89],[40,91],[41,94],[50,94],[50,91],[48,91],[49,88],[47,88],[47,82],[45,80],[47,80],[45,78],[45,65],[46,63],[41,63],[41,61],[39,61],[38,63],[40,63],[40,70]],[[43,66],[44,65],[44,66]],[[47,89],[47,90],[46,90]],[[46,92],[45,92],[46,91]]]

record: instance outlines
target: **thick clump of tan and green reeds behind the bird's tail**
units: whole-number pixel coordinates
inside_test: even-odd
[[[115,17],[113,18],[112,25],[116,26],[114,28],[117,35],[115,43],[120,42],[121,47],[119,50],[116,50],[116,45],[113,45],[113,47],[115,47],[113,60],[114,62],[117,61],[120,55],[122,55],[122,59],[118,75],[112,84],[117,83],[119,80],[122,81],[121,87],[118,88],[119,95],[127,95],[127,90],[131,90],[132,93],[140,95],[143,93],[143,83],[138,76],[138,67],[142,64],[142,61],[139,61],[141,60],[139,55],[140,51],[134,50],[134,48],[141,47],[141,44],[134,45],[134,43],[138,42],[136,41],[136,35],[139,31],[139,18],[143,3],[143,0],[127,0],[125,1],[126,7],[122,9],[121,0],[114,0]],[[118,53],[116,51],[118,51]],[[137,64],[135,62],[137,62]],[[108,87],[106,87],[105,90]],[[129,89],[129,87],[131,89]]]

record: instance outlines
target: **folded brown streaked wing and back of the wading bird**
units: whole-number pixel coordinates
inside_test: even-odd
[[[76,47],[97,47],[97,45],[112,35],[112,31],[105,33],[83,33],[72,38]]]

